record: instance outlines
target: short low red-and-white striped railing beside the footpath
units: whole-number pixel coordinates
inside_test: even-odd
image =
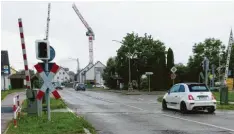
[[[20,117],[20,100],[19,100],[19,95],[14,96],[13,98],[13,122],[14,122],[14,127],[17,127],[17,116]]]

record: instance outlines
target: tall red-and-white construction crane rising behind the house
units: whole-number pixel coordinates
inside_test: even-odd
[[[77,9],[76,5],[73,3],[72,8],[84,24],[84,26],[87,28],[86,36],[88,36],[89,39],[89,64],[93,64],[93,40],[95,40],[95,35],[92,30],[92,28],[89,26],[89,24],[85,21],[83,16],[81,15],[80,11]]]

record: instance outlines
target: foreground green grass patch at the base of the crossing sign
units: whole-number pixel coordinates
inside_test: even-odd
[[[96,134],[92,125],[83,117],[77,117],[71,112],[52,112],[50,122],[46,114],[42,117],[24,114],[18,121],[17,128],[14,128],[13,123],[10,124],[7,134],[85,134],[83,128]]]

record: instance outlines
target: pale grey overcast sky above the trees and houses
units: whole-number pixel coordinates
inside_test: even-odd
[[[128,32],[151,34],[174,51],[175,62],[186,64],[194,43],[205,38],[219,38],[228,43],[234,29],[234,2],[75,2],[94,30],[94,62],[106,64],[116,55]],[[23,20],[29,67],[37,62],[35,40],[43,39],[46,30],[47,2],[2,2],[1,49],[8,50],[10,64],[23,69],[18,18]],[[52,2],[49,40],[55,48],[55,62],[76,70],[89,62],[86,28],[72,8],[72,2]]]

